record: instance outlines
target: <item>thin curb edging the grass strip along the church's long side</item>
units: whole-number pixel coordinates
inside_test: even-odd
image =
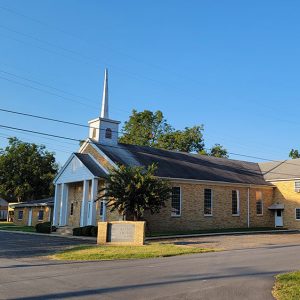
[[[262,231],[232,231],[232,232],[215,232],[215,233],[195,233],[195,234],[182,234],[182,235],[166,235],[166,236],[153,236],[146,237],[146,241],[155,240],[168,240],[168,239],[180,239],[180,238],[191,238],[191,237],[206,237],[206,236],[222,236],[222,235],[247,235],[247,234],[278,234],[278,233],[296,233],[300,232],[298,229],[284,229],[284,230],[262,230]]]

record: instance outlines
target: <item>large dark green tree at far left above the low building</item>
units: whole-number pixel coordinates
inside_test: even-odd
[[[52,196],[57,169],[45,146],[9,138],[0,149],[0,194],[18,202]]]

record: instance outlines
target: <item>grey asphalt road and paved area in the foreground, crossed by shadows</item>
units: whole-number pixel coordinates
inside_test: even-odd
[[[0,232],[0,299],[273,299],[274,275],[300,269],[298,244],[159,259],[36,258],[78,240]]]

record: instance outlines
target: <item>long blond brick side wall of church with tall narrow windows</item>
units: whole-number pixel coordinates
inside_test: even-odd
[[[171,201],[166,208],[154,215],[145,215],[147,229],[152,232],[188,231],[215,228],[246,228],[247,227],[247,193],[246,187],[205,185],[196,183],[176,183],[172,186],[181,187],[181,216],[171,216]],[[204,189],[212,189],[213,215],[204,216]],[[232,190],[240,192],[240,215],[232,215]],[[267,209],[272,204],[273,189],[258,189],[263,193],[264,214],[256,215],[256,189],[250,189],[250,227],[273,227],[274,217]]]

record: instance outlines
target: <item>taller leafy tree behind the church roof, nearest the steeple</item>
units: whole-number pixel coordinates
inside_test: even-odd
[[[161,111],[132,111],[129,120],[125,122],[119,141],[125,144],[140,146],[155,146],[157,139],[172,130]]]

